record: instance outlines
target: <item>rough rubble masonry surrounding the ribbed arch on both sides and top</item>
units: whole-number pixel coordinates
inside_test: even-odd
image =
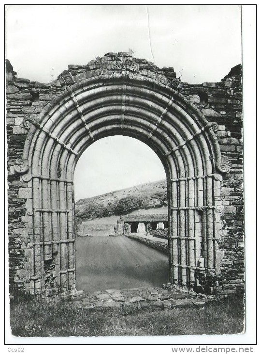
[[[232,68],[220,82],[188,84],[175,79],[173,68],[160,69],[145,59],[132,58],[129,53],[107,53],[87,65],[69,65],[57,80],[45,84],[16,78],[13,67],[7,62],[7,144],[8,144],[8,222],[9,222],[9,278],[10,284],[30,289],[31,265],[38,260],[33,249],[30,180],[20,174],[22,153],[31,121],[53,98],[63,92],[76,75],[97,70],[135,71],[146,77],[157,78],[165,85],[178,89],[206,117],[216,122],[215,131],[220,144],[224,165],[228,173],[221,181],[222,238],[219,240],[218,257],[221,259],[220,281],[217,290],[223,294],[243,289],[244,279],[244,226],[243,226],[243,170],[242,170],[242,90],[241,67]],[[211,156],[210,156],[211,159]],[[20,161],[19,161],[20,160]],[[217,215],[218,216],[218,215]],[[36,248],[37,249],[37,248]],[[218,261],[218,259],[217,259]],[[53,286],[52,270],[46,267],[44,281]],[[202,280],[203,284],[204,280]]]

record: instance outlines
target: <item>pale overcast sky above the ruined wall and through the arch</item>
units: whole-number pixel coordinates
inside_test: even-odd
[[[9,5],[6,57],[17,77],[50,82],[68,64],[130,48],[183,81],[215,82],[241,63],[240,21],[239,5]],[[161,178],[149,147],[109,137],[80,158],[75,200]]]

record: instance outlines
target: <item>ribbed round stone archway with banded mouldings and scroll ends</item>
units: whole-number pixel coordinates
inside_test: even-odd
[[[194,287],[218,274],[222,161],[215,123],[162,76],[120,66],[63,76],[65,90],[31,127],[16,166],[31,189],[30,291],[75,289],[73,173],[83,151],[110,135],[150,146],[162,161],[169,201],[169,279]],[[20,167],[19,167],[20,166]],[[26,174],[25,174],[26,173]],[[46,272],[51,277],[46,278]],[[51,281],[50,281],[51,279]]]

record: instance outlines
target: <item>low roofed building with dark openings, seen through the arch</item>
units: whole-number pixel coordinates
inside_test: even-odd
[[[168,215],[128,215],[124,217],[125,233],[151,234],[158,228],[168,228]]]

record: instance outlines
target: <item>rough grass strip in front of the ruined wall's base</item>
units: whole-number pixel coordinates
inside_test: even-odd
[[[43,299],[16,299],[10,303],[10,323],[12,334],[20,337],[235,334],[244,330],[244,305],[230,299],[203,308],[133,305],[93,310]]]

